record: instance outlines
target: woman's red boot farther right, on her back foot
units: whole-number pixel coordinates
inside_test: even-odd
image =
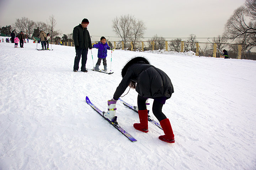
[[[175,142],[174,134],[172,132],[169,119],[161,120],[160,125],[162,126],[162,129],[164,130],[165,135],[159,136],[158,138],[164,142],[174,143]]]

